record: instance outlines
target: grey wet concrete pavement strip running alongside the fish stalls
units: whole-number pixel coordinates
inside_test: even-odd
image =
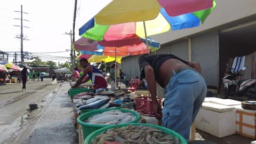
[[[17,143],[78,143],[74,125],[73,103],[68,96],[69,83],[63,83],[45,113],[25,141]]]

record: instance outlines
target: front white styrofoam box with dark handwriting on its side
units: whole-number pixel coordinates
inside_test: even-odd
[[[236,133],[236,111],[219,113],[200,108],[195,119],[196,128],[222,138]]]

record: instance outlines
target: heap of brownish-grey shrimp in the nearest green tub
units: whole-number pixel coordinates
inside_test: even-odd
[[[97,135],[92,143],[160,143],[179,144],[180,140],[172,134],[166,134],[156,127],[128,125],[119,129],[108,129]]]

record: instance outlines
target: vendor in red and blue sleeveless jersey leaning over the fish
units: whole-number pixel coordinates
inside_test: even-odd
[[[71,87],[74,89],[79,85],[86,83],[91,79],[92,84],[96,92],[107,90],[107,81],[104,78],[103,74],[100,72],[98,68],[90,65],[90,63],[86,59],[81,59],[80,65],[84,68],[83,75],[77,80],[77,82]],[[87,78],[83,79],[85,76],[89,75]]]

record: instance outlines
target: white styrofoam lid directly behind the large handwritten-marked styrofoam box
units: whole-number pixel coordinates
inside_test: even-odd
[[[217,104],[225,105],[225,106],[237,106],[237,105],[241,105],[241,101],[230,100],[230,99],[205,98],[204,101],[205,101],[205,102],[210,102],[210,103],[217,103]]]

